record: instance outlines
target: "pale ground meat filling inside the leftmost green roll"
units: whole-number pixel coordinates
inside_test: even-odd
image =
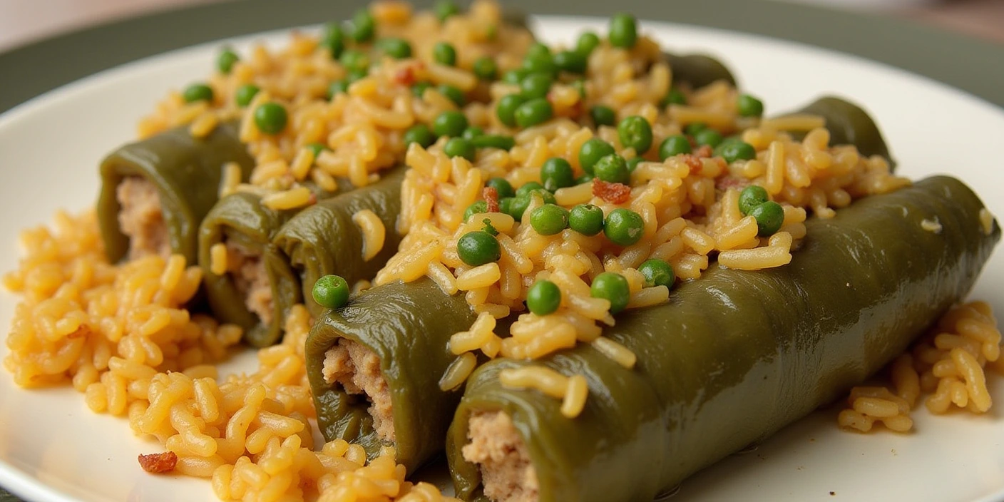
[[[157,187],[145,178],[128,176],[115,189],[115,198],[121,207],[118,227],[129,237],[129,258],[171,256],[171,239],[164,224]]]

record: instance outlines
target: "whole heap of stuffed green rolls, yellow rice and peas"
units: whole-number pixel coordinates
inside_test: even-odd
[[[848,390],[862,432],[990,409],[970,189],[632,15],[569,42],[385,0],[224,47],[96,213],[25,233],[5,367],[156,438],[138,469],[263,502],[456,500],[408,480],[444,450],[463,500],[650,500]]]

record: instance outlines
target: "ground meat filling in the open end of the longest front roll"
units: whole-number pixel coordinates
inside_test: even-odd
[[[475,413],[468,427],[470,443],[461,453],[464,460],[481,467],[485,495],[495,502],[536,502],[537,473],[509,416]]]

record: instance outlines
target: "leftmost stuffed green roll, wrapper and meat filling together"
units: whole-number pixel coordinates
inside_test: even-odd
[[[174,129],[105,158],[97,217],[108,260],[179,253],[195,263],[199,225],[219,199],[229,162],[246,181],[254,161],[236,123],[222,123],[202,139],[187,127]]]

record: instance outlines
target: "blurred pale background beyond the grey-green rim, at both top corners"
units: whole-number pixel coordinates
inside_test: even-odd
[[[220,0],[0,0],[0,51],[101,22],[215,1]],[[776,1],[911,18],[1004,45],[1004,0]]]

